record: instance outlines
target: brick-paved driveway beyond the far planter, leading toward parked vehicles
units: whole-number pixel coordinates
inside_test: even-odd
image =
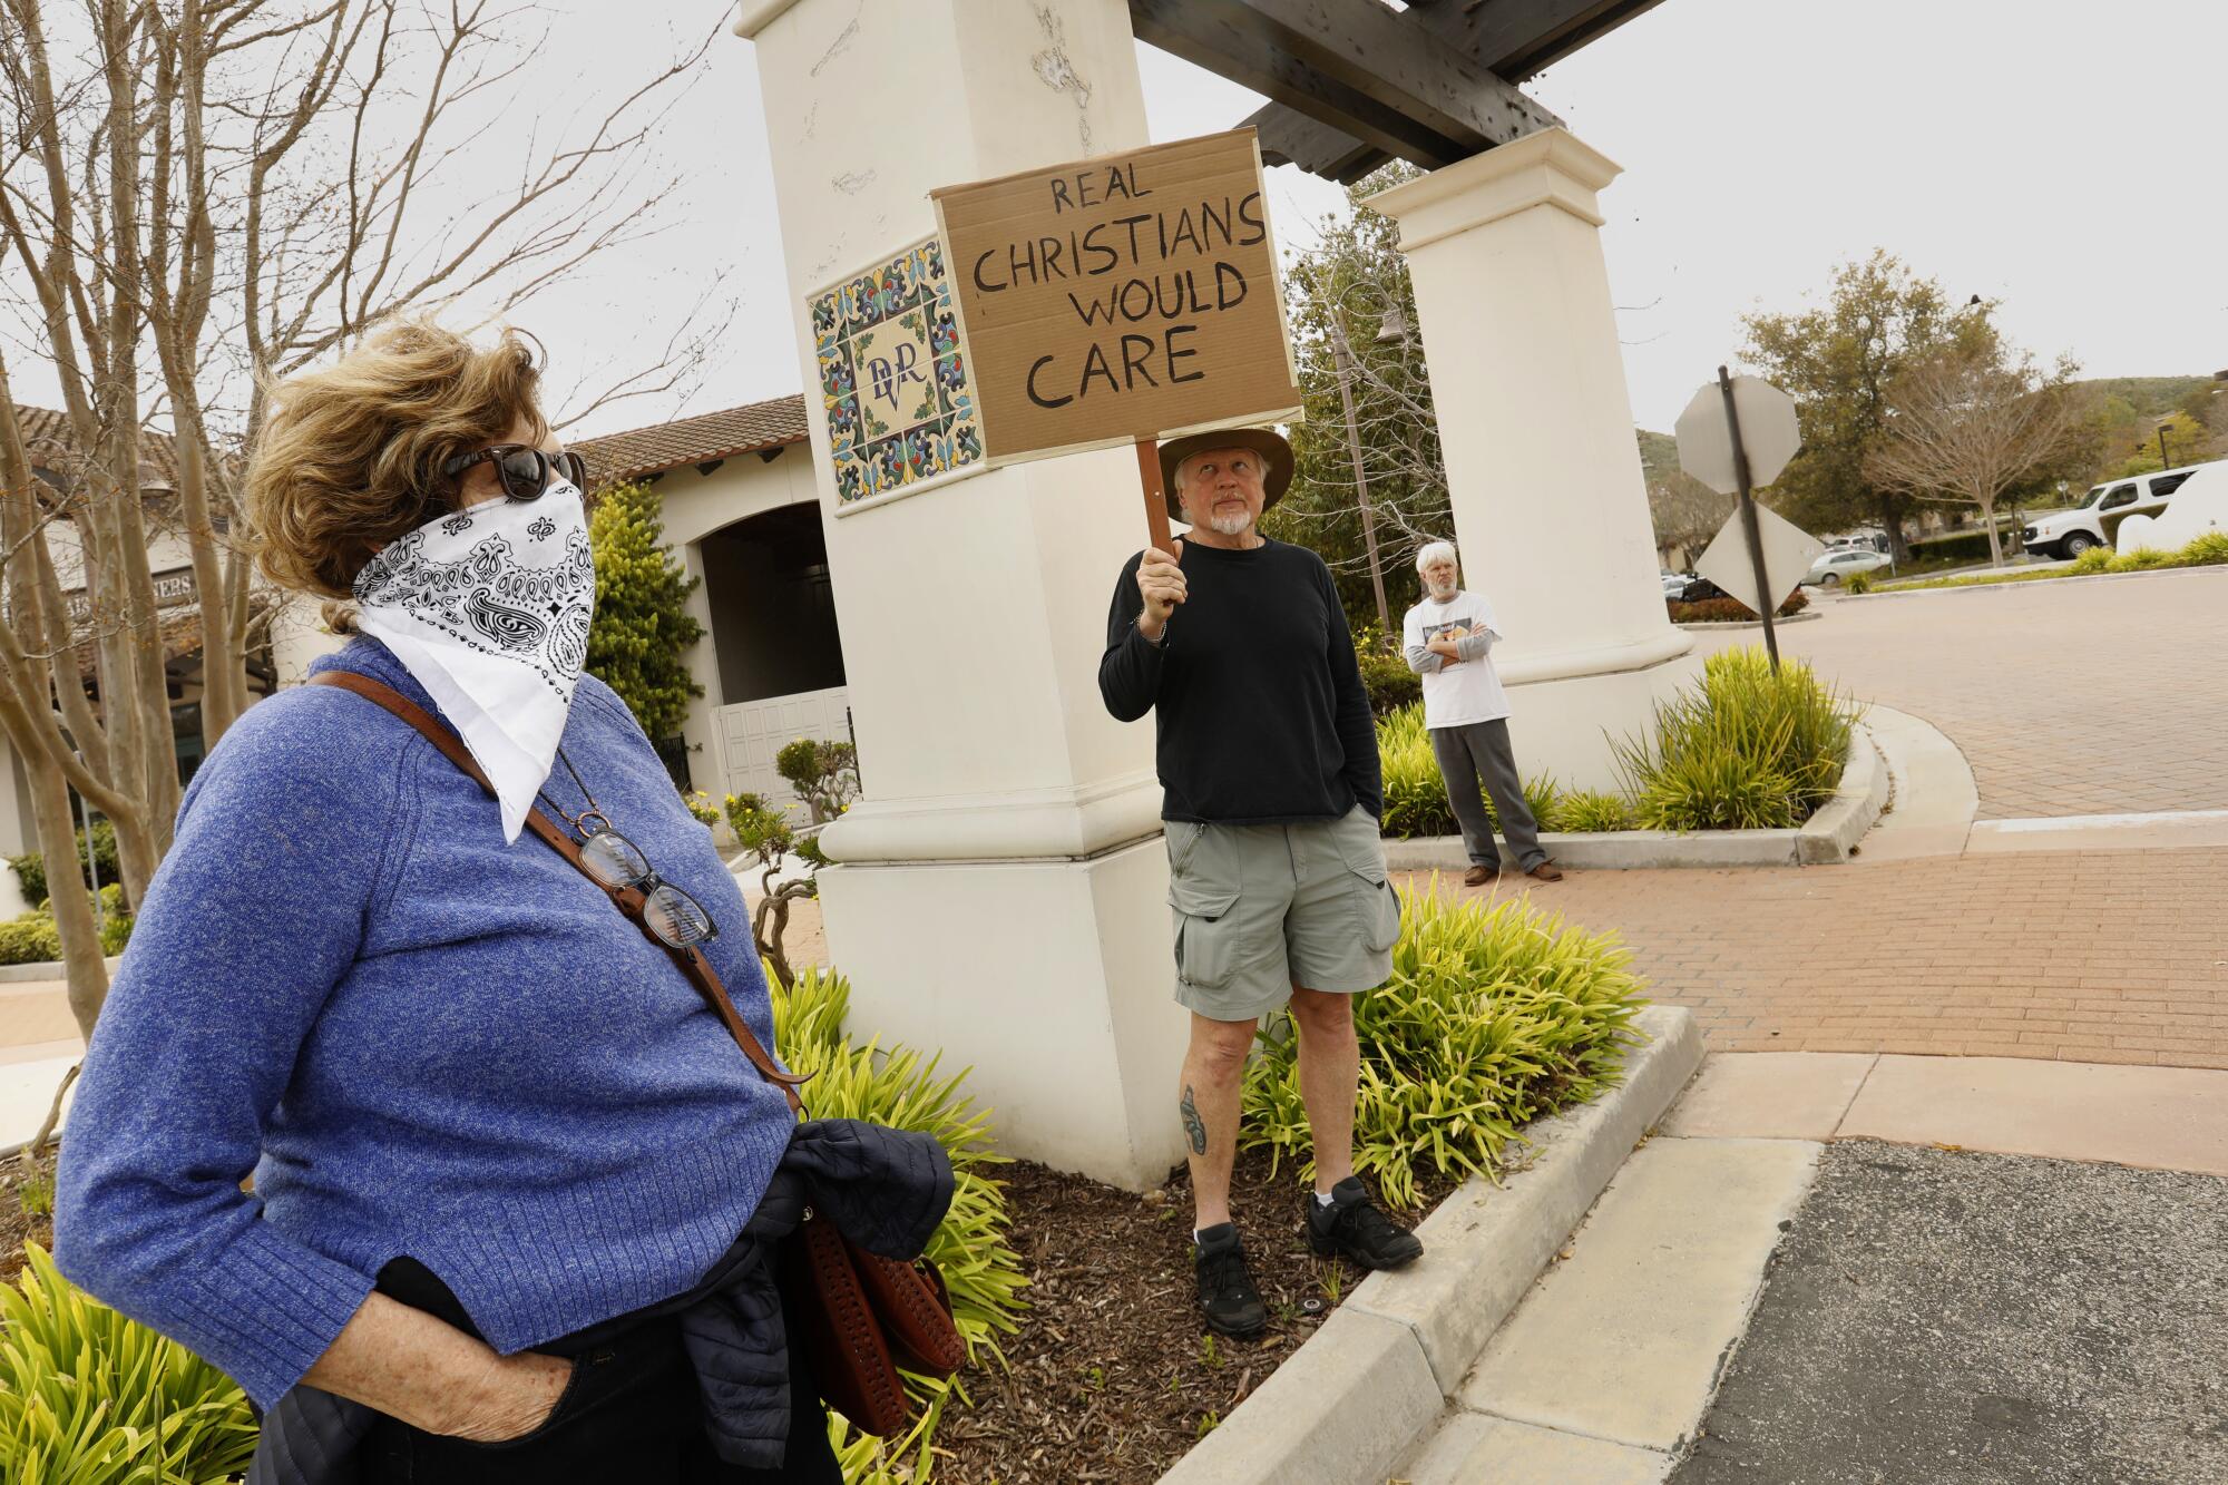
[[[1950,734],[1983,821],[2228,809],[2228,569],[1820,609],[1780,631],[1785,653]],[[1738,629],[1700,638],[1762,642]]]

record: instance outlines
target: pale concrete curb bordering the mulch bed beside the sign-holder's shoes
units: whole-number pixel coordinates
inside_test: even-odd
[[[1606,1095],[1528,1130],[1504,1184],[1470,1180],[1417,1229],[1424,1260],[1372,1273],[1163,1485],[1375,1485],[1437,1427],[1493,1331],[1702,1066],[1702,1032],[1649,1006]]]

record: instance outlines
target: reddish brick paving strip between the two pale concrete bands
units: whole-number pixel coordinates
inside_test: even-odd
[[[1618,930],[1713,1052],[2228,1068],[2228,850],[1573,872],[1531,901]]]

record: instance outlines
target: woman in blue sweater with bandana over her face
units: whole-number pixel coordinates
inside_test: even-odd
[[[653,928],[773,1044],[735,881],[582,673],[584,475],[535,379],[508,334],[405,323],[276,388],[263,569],[352,600],[319,669],[434,711],[497,798],[332,685],[225,734],[85,1059],[56,1258],[276,1409],[258,1481],[836,1481],[771,1298],[800,1126],[673,954],[521,836],[539,803],[631,841],[673,887]],[[860,1148],[902,1168],[842,1175],[893,1180],[871,1204],[918,1251],[949,1164]]]

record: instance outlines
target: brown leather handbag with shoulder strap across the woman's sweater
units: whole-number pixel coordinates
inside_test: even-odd
[[[394,687],[354,671],[321,671],[310,682],[341,687],[379,702],[417,727],[428,742],[441,749],[443,758],[463,769],[490,798],[495,796],[495,785],[488,783],[457,734]],[[798,1084],[804,1079],[795,1072],[782,1072],[766,1048],[758,1044],[744,1019],[735,1015],[735,1003],[704,952],[697,948],[677,950],[653,934],[642,921],[642,892],[599,883],[579,858],[579,843],[550,823],[539,807],[528,812],[526,827],[595,883],[642,930],[644,939],[673,954],[673,961],[688,974],[688,983],[720,1017],[758,1075],[782,1090],[791,1113],[804,1117],[804,1099],[798,1097]],[[804,1331],[791,1342],[804,1345],[813,1378],[820,1382],[820,1396],[853,1427],[869,1434],[887,1438],[911,1425],[913,1402],[905,1396],[900,1367],[920,1376],[949,1378],[967,1362],[967,1342],[951,1320],[951,1295],[945,1291],[936,1264],[925,1258],[907,1264],[869,1253],[838,1233],[833,1222],[820,1220],[811,1206],[804,1209],[795,1240],[782,1244],[782,1284],[789,1289],[791,1311]]]

